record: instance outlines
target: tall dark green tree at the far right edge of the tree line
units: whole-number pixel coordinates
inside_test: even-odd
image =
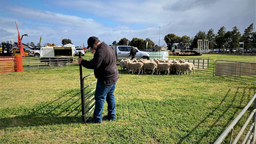
[[[241,40],[244,42],[244,48],[246,49],[246,52],[249,48],[253,48],[253,23],[250,24],[250,26],[244,30],[244,34],[242,35]]]

